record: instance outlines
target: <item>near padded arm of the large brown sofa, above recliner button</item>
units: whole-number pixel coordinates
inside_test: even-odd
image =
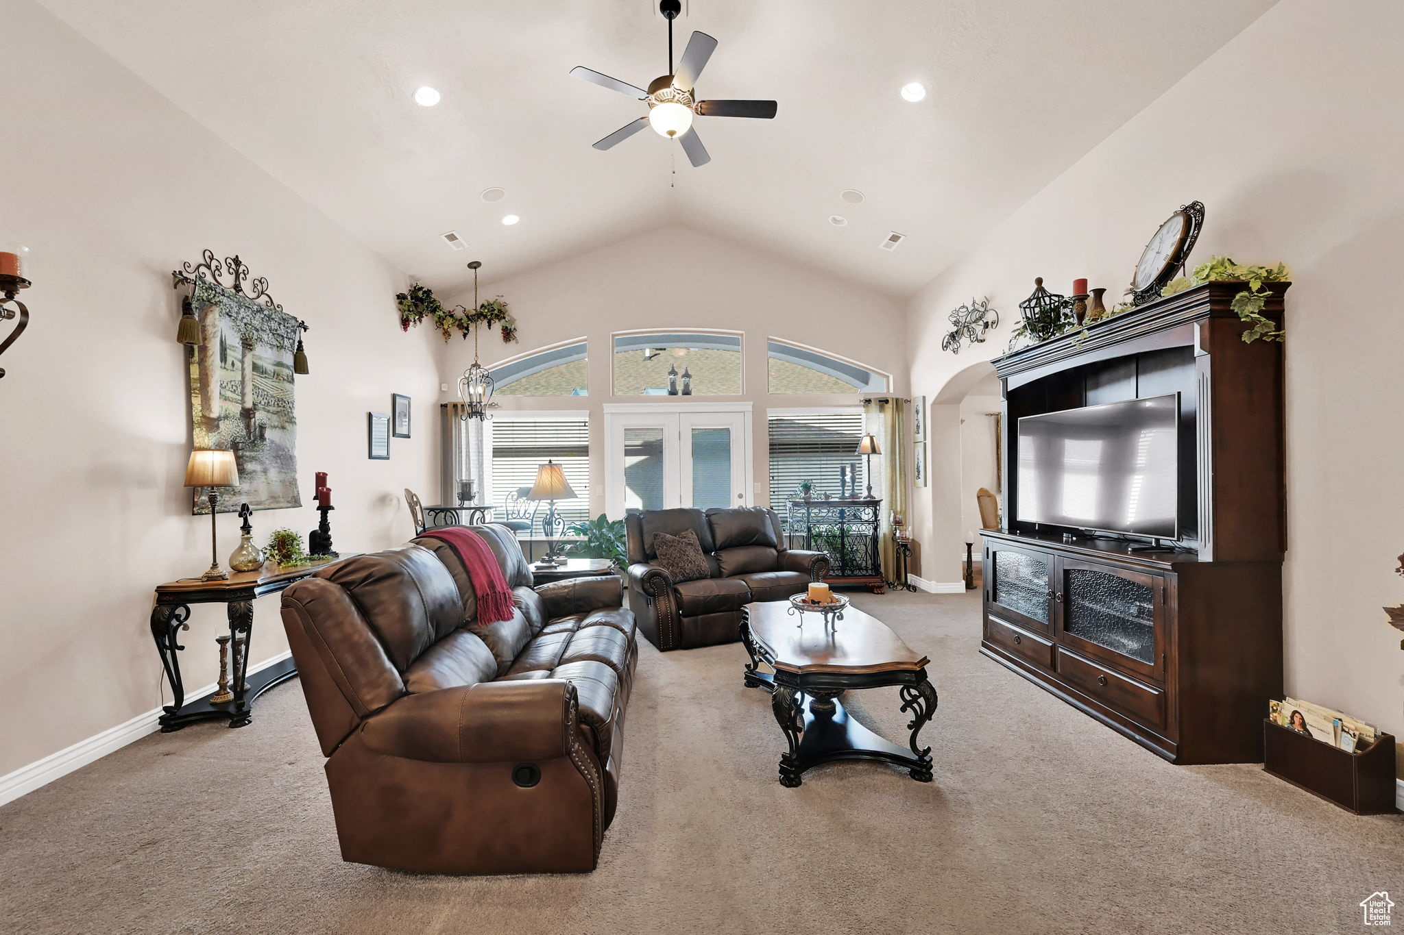
[[[576,687],[560,678],[484,681],[404,695],[361,725],[366,747],[432,763],[570,756]]]

